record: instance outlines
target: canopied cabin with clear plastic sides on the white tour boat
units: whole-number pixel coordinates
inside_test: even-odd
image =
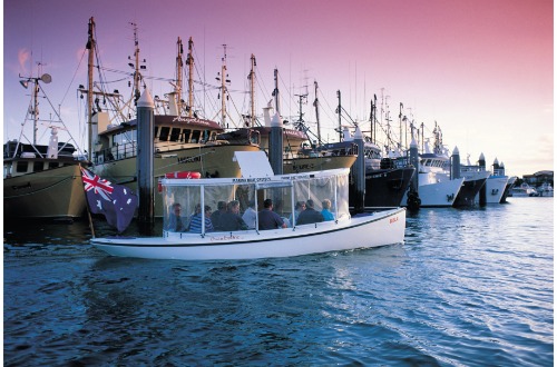
[[[243,152],[240,152],[243,153]],[[250,153],[250,152],[247,152]],[[236,152],[236,157],[238,157]],[[243,217],[252,206],[255,210],[255,221],[245,222],[247,228],[237,227],[235,230],[225,230],[226,234],[243,231],[246,229],[258,229],[258,212],[264,210],[265,199],[273,201],[273,211],[276,212],[290,228],[299,226],[296,208],[299,204],[313,201],[314,210],[322,211],[330,206],[333,220],[348,220],[349,212],[349,168],[341,168],[312,173],[292,173],[274,176],[271,167],[268,170],[258,168],[253,155],[245,155],[250,158],[241,158],[248,161],[251,172],[246,172],[245,165],[238,159],[242,167],[242,178],[212,178],[212,179],[173,179],[165,178],[160,181],[164,200],[164,236],[182,236],[190,231],[193,215],[202,216],[197,220],[201,226],[196,228],[197,234],[205,236],[212,229],[212,214],[223,207],[224,204],[237,201]],[[263,157],[266,156],[263,153]],[[266,162],[268,166],[268,161]],[[311,202],[310,201],[310,202]],[[179,221],[185,229],[176,230],[176,207],[180,208]],[[201,210],[201,208],[204,208]],[[209,211],[205,210],[209,209]],[[199,218],[197,218],[199,219]],[[312,224],[317,226],[319,224]],[[201,227],[201,229],[199,229]]]

